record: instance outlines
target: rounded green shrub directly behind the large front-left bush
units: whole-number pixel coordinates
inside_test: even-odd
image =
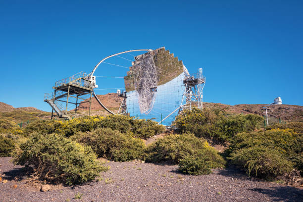
[[[122,134],[110,128],[99,128],[92,132],[78,133],[72,140],[91,146],[100,157],[115,161],[129,161],[142,158],[144,143],[130,134]]]

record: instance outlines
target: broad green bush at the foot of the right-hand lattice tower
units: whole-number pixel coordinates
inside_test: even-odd
[[[226,115],[224,110],[213,107],[185,111],[176,117],[173,125],[181,133],[191,132],[197,137],[213,137],[225,142],[239,132],[253,131],[261,120],[256,114]]]

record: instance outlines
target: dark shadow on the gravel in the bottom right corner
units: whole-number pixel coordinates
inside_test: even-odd
[[[254,192],[265,194],[272,198],[273,202],[302,202],[303,189],[296,187],[274,187],[271,189],[251,189]]]

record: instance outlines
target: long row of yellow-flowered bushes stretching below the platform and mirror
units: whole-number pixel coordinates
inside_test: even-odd
[[[123,115],[86,116],[68,121],[39,120],[28,124],[24,129],[24,135],[37,132],[41,134],[57,133],[66,137],[78,132],[89,132],[97,128],[111,128],[121,133],[133,134],[138,138],[148,138],[164,131],[164,126],[155,121],[134,119]]]

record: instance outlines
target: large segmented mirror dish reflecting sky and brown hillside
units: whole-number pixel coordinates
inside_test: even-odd
[[[129,115],[160,122],[186,102],[181,103],[187,75],[182,60],[164,48],[136,56],[124,77]],[[178,110],[162,124],[171,125],[177,114]]]

